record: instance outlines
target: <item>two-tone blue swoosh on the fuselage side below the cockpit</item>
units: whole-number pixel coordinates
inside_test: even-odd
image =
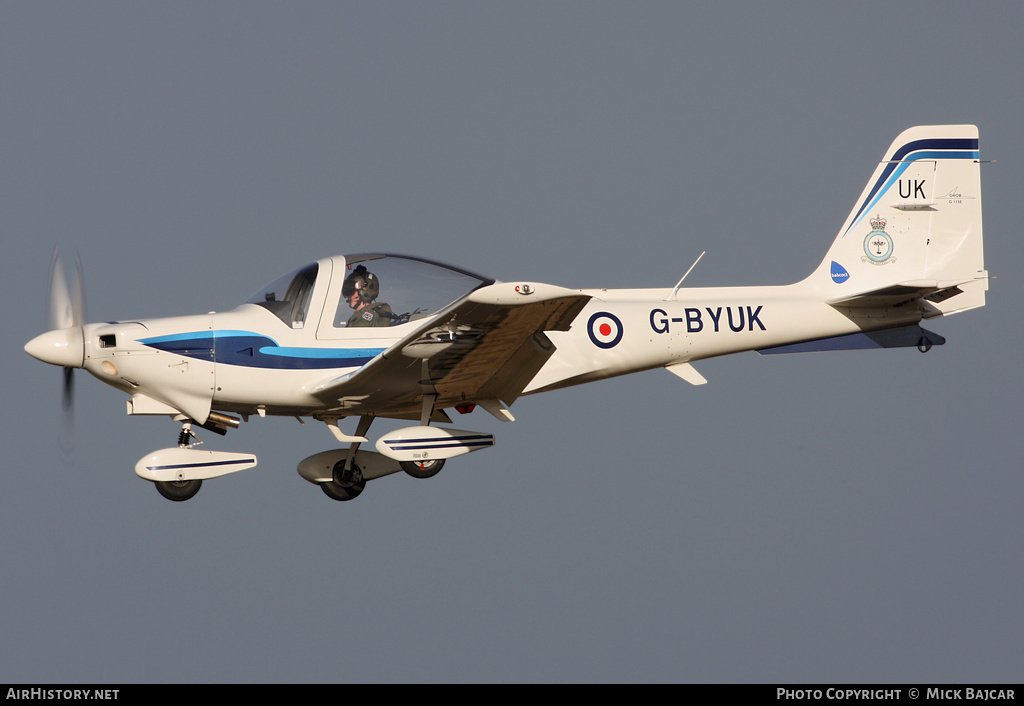
[[[141,338],[138,342],[185,358],[272,370],[357,368],[385,350],[281,346],[272,338],[251,331],[194,331]]]

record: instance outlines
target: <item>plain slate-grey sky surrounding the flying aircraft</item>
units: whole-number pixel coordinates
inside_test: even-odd
[[[0,680],[1020,681],[1019,3],[0,4]],[[91,321],[223,310],[315,258],[568,287],[785,284],[916,124],[981,130],[988,305],[916,350],[521,399],[495,449],[337,503],[323,424],[133,472],[177,424],[77,376]],[[375,432],[387,430],[378,422]]]

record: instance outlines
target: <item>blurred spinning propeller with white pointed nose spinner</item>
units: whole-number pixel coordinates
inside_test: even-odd
[[[63,367],[61,394],[60,447],[70,451],[74,432],[74,371],[85,362],[85,291],[82,259],[76,255],[71,283],[63,263],[53,249],[50,263],[49,327],[46,333],[26,343],[25,350],[44,363]]]

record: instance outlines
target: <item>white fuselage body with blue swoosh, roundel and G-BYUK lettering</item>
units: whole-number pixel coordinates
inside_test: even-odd
[[[801,284],[675,293],[574,291],[591,300],[568,331],[547,333],[556,350],[523,393],[913,324],[926,315],[920,306],[906,306],[896,312],[862,308],[852,318]],[[134,396],[135,414],[177,410],[201,422],[210,410],[305,416],[330,409],[313,393],[317,384],[355,372],[418,325],[422,321],[350,329],[343,339],[325,340],[312,329],[290,329],[265,309],[246,304],[224,313],[88,325],[83,367]],[[273,345],[290,355],[273,355]]]

